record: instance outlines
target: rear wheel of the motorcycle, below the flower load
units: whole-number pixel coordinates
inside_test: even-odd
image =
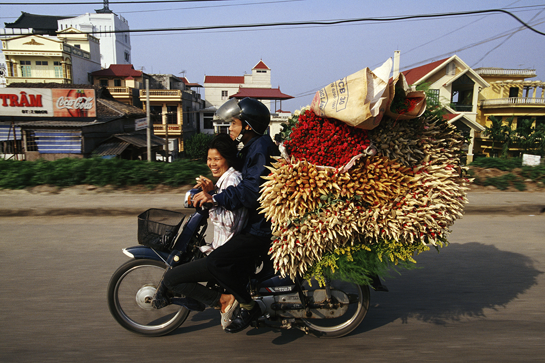
[[[312,287],[317,287],[318,282],[312,281]],[[340,290],[349,298],[348,310],[340,317],[331,319],[301,319],[309,328],[309,333],[319,338],[338,338],[347,335],[364,320],[369,309],[369,286],[361,286],[342,280],[331,280],[331,290]],[[307,283],[304,290],[312,290]]]

